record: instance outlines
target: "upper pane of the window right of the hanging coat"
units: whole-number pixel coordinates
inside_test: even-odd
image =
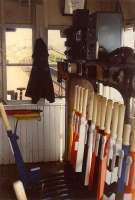
[[[65,59],[65,41],[66,38],[60,37],[60,30],[48,30],[49,64]]]

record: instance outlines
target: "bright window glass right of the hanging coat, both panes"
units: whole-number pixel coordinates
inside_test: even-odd
[[[64,51],[66,38],[62,38],[60,30],[48,30],[49,65],[53,79],[55,96],[65,96],[65,83],[57,82],[57,62],[65,59]]]

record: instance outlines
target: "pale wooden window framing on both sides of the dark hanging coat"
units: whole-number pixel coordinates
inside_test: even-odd
[[[57,26],[57,25],[53,25],[53,26],[48,26],[48,28],[46,29],[46,45],[48,46],[48,30],[63,30],[65,29],[67,26]],[[2,89],[1,89],[1,94],[2,94],[2,100],[4,100],[6,102],[7,105],[31,105],[31,100],[7,100],[7,66],[32,66],[32,64],[28,64],[26,65],[26,63],[23,64],[8,64],[6,63],[6,28],[31,28],[32,29],[32,50],[34,47],[34,41],[36,39],[36,29],[34,25],[28,25],[28,24],[5,24],[2,25],[0,24],[0,28],[1,28],[1,34],[2,37],[1,39],[1,43],[2,43],[2,48],[3,48],[3,54],[2,54],[2,65],[0,66],[0,76],[1,78],[1,82],[2,82]],[[54,66],[56,67],[56,64],[52,64],[49,65],[51,68],[53,68]],[[55,97],[57,98],[57,96]],[[58,97],[59,98],[59,97]],[[64,96],[65,98],[65,96]],[[41,100],[42,102],[42,100]],[[37,104],[36,104],[37,105]]]

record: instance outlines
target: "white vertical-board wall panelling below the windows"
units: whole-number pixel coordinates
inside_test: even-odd
[[[37,105],[8,105],[5,109],[41,109],[41,121],[20,120],[18,144],[25,162],[59,161],[65,150],[65,100]],[[16,119],[8,117],[15,127]],[[62,150],[60,152],[62,144]],[[14,163],[6,131],[0,119],[0,164]]]

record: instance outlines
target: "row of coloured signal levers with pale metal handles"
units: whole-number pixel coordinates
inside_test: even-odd
[[[68,158],[97,200],[135,199],[135,130],[125,105],[74,88]]]

